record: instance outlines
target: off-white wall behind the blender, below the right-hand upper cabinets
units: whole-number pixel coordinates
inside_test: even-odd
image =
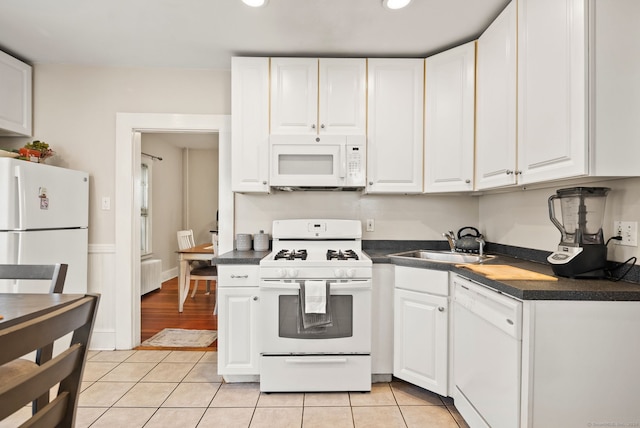
[[[640,170],[639,170],[640,171]],[[589,182],[589,187],[609,187],[605,218],[604,238],[613,235],[615,220],[640,223],[640,178],[628,178]],[[547,199],[557,189],[574,185],[556,185],[537,190],[515,190],[509,193],[480,197],[480,229],[491,242],[555,251],[560,241],[560,232],[549,220]],[[556,216],[562,222],[561,213]],[[609,243],[610,260],[624,261],[631,256],[640,257],[638,247],[624,247]]]

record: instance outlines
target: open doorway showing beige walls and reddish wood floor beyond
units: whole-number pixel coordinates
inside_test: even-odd
[[[209,132],[141,132],[143,209],[140,213],[142,259],[162,268],[162,288],[141,296],[144,342],[164,328],[216,330],[215,293],[200,287],[178,313],[176,231],[192,230],[196,244],[211,243],[218,230],[218,134]],[[144,268],[145,265],[143,264]],[[145,283],[142,293],[159,284]],[[149,276],[147,276],[147,279]],[[145,285],[146,284],[146,285]]]

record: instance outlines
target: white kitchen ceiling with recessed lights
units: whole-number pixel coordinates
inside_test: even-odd
[[[425,57],[509,0],[1,0],[0,49],[30,64],[229,69],[231,57]]]

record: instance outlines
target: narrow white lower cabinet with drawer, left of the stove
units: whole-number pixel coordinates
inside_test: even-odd
[[[218,266],[218,374],[258,375],[258,266]],[[225,377],[225,380],[228,380]]]

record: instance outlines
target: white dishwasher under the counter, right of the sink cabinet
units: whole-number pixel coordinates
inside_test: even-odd
[[[455,275],[453,399],[472,428],[520,426],[522,302]]]

